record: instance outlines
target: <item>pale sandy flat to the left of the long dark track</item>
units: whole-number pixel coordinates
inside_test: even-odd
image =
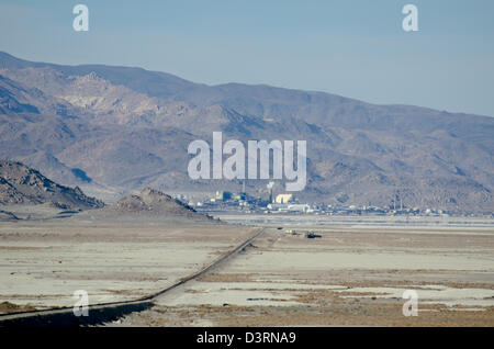
[[[135,300],[201,269],[252,232],[74,218],[0,222],[0,313],[72,306],[76,290],[87,291],[90,304]]]

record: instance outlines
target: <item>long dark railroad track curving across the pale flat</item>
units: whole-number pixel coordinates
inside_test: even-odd
[[[78,327],[78,326],[89,326],[102,323],[108,323],[115,320],[119,317],[134,313],[141,312],[149,308],[154,305],[154,301],[171,290],[177,289],[187,282],[194,280],[205,273],[218,268],[224,261],[238,254],[248,247],[254,239],[259,237],[266,232],[266,228],[260,228],[259,232],[242,241],[232,250],[223,254],[220,258],[213,260],[211,263],[203,267],[201,270],[180,279],[172,285],[153,293],[150,295],[133,300],[133,301],[122,301],[122,302],[111,302],[111,303],[100,303],[88,305],[89,316],[75,316],[74,307],[57,307],[48,308],[42,311],[30,311],[20,312],[13,314],[2,314],[0,315],[0,327]]]

